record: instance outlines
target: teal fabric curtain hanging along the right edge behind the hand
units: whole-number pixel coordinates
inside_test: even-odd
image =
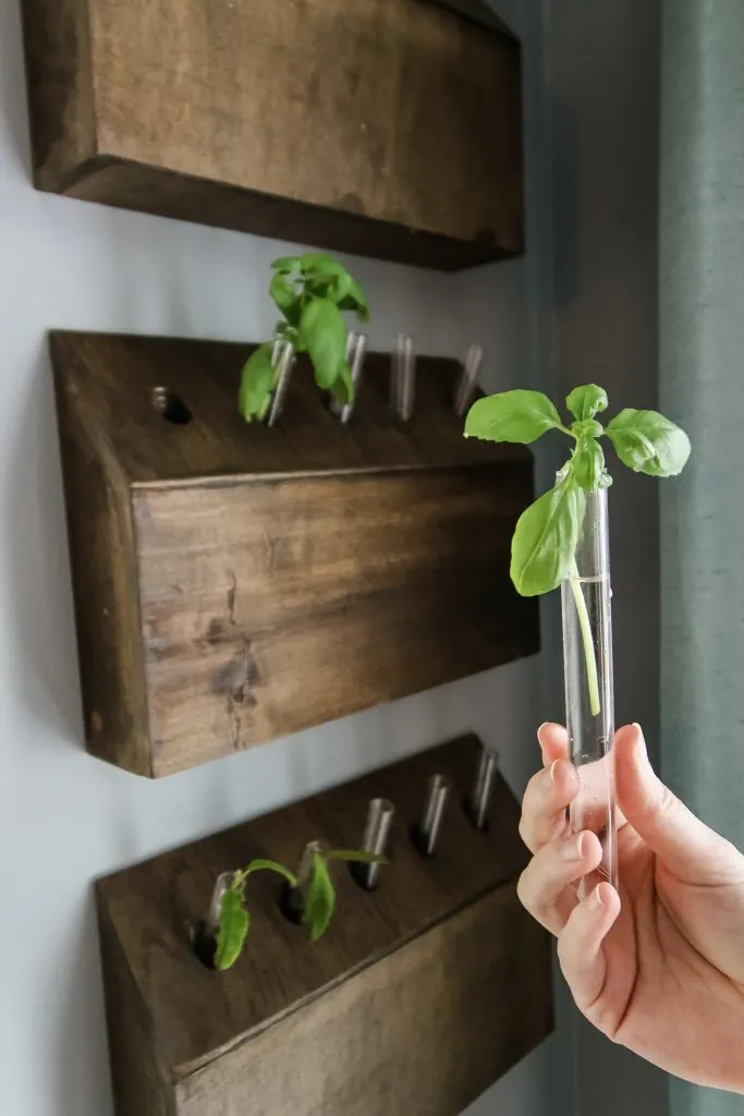
[[[660,406],[693,443],[660,485],[661,771],[744,848],[744,0],[665,0],[661,52]]]

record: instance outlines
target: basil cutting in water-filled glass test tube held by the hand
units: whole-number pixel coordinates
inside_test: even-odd
[[[563,422],[542,392],[516,389],[477,400],[465,421],[465,436],[529,444],[547,431],[572,440],[571,454],[554,485],[522,512],[512,539],[511,577],[531,597],[561,589],[563,674],[570,756],[580,790],[571,804],[574,829],[591,829],[602,860],[582,881],[586,894],[601,879],[617,886],[615,801],[615,701],[607,492],[612,483],[600,440],[634,472],[676,477],[689,456],[689,439],[657,411],[626,407],[607,425],[607,392],[596,384],[576,387]]]

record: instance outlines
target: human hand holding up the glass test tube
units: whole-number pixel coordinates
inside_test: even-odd
[[[628,725],[613,744],[620,893],[605,882],[579,903],[601,847],[567,821],[579,778],[566,730],[544,724],[538,738],[544,766],[520,824],[533,858],[518,891],[558,937],[577,1006],[661,1069],[744,1093],[744,856],[660,782]]]

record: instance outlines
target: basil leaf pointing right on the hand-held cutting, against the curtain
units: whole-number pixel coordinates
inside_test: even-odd
[[[607,435],[622,464],[648,477],[676,477],[689,456],[684,430],[658,411],[626,407],[609,423]]]

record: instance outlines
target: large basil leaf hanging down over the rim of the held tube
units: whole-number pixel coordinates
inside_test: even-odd
[[[522,512],[512,539],[510,573],[523,597],[550,593],[568,576],[583,512],[583,491],[570,472]]]

